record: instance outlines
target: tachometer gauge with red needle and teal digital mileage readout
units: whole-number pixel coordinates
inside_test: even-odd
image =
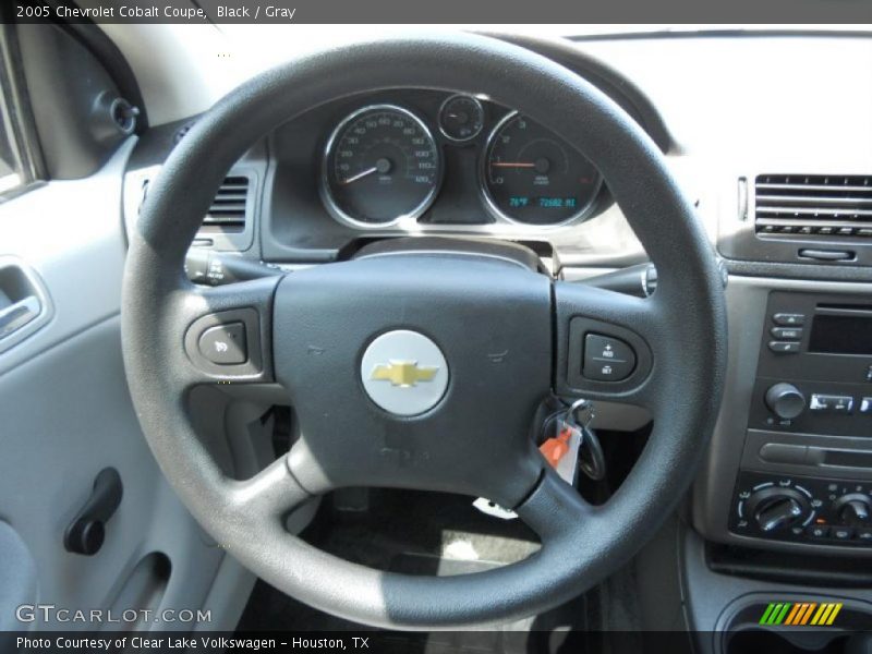
[[[559,136],[519,113],[494,130],[484,164],[484,193],[500,216],[526,225],[561,225],[596,197],[600,172]]]

